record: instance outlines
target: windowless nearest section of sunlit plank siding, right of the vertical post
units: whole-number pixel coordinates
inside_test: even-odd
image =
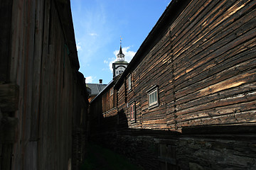
[[[255,123],[255,1],[200,6],[169,30],[177,128]]]

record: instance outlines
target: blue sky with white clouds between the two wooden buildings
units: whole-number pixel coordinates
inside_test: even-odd
[[[171,0],[71,0],[79,71],[87,83],[112,80],[112,62],[122,51],[129,62]]]

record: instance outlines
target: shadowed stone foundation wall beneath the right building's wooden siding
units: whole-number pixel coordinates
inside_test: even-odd
[[[256,169],[256,142],[252,142],[256,140],[249,133],[182,135],[127,130],[97,137],[101,145],[142,169]]]

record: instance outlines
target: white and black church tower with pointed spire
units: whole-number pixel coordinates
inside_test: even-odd
[[[127,65],[129,64],[128,62],[124,61],[124,54],[122,53],[122,41],[121,40],[120,40],[119,53],[117,55],[117,62],[114,62],[112,64],[113,77],[116,77],[119,74],[122,74],[124,72],[124,69],[126,69]]]

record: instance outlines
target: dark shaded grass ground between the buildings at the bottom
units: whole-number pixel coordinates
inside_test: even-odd
[[[89,143],[87,145],[87,155],[81,166],[82,170],[136,170],[138,166],[129,162],[126,157],[106,149],[99,145]]]

